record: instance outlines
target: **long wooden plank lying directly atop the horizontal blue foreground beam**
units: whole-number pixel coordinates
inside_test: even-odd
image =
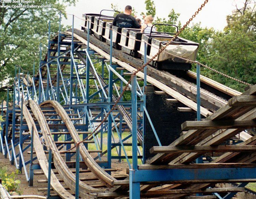
[[[255,168],[255,163],[202,163],[202,164],[166,164],[138,165],[138,170],[157,170],[157,169],[211,169],[211,168]]]

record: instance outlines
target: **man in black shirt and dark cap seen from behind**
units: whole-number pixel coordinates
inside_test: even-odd
[[[115,16],[112,25],[120,28],[141,28],[141,25],[138,24],[136,18],[131,16],[131,12],[131,6],[127,5],[124,13],[119,13]]]

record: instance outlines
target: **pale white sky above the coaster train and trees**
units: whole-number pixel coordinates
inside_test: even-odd
[[[78,0],[75,6],[68,6],[66,12],[81,17],[84,13],[100,13],[103,9],[111,9],[111,3],[117,5],[120,9],[129,4],[137,12],[138,18],[142,18],[141,12],[145,12],[145,0]],[[213,27],[216,30],[222,30],[226,26],[226,16],[235,9],[234,1],[241,5],[242,0],[209,0],[198,16],[193,19],[194,23],[201,22],[203,27]],[[180,13],[179,20],[183,25],[200,7],[204,0],[154,0],[156,6],[156,16],[168,17],[173,8],[176,13]],[[112,15],[111,12],[105,12],[106,15]],[[75,17],[74,26],[80,29],[81,19]],[[62,24],[72,25],[72,16],[68,15],[63,19]]]

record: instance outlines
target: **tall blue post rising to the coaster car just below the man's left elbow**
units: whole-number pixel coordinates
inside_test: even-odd
[[[112,67],[112,28],[110,29],[110,66]],[[112,102],[113,94],[113,72],[109,71],[108,78],[108,102]],[[112,106],[109,106],[110,109]],[[112,144],[112,117],[111,115],[107,118],[107,165],[108,168],[111,168],[111,144]],[[111,174],[111,172],[109,172]]]

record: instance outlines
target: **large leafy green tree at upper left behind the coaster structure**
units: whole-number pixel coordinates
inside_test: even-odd
[[[39,43],[47,47],[48,21],[51,34],[59,28],[59,13],[77,0],[35,0],[29,6],[49,5],[50,8],[14,8],[13,3],[0,3],[0,78],[12,82],[15,65],[31,70],[39,61]],[[19,4],[14,4],[19,5]],[[20,4],[21,5],[21,4]],[[24,4],[22,4],[24,5]],[[66,15],[65,15],[66,17]],[[62,26],[62,30],[66,27]],[[43,52],[44,54],[44,52]],[[0,87],[3,82],[1,81]]]

